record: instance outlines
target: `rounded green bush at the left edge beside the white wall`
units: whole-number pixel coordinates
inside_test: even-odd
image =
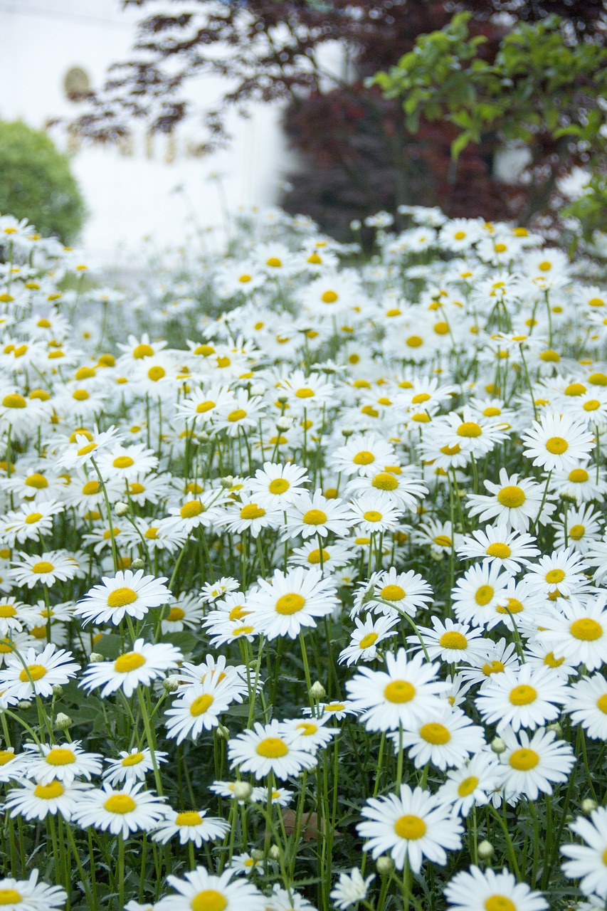
[[[27,218],[64,243],[77,240],[86,216],[67,156],[18,120],[0,121],[0,213]]]

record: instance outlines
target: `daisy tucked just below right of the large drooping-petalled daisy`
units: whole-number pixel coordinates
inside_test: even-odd
[[[415,727],[407,725],[402,732],[392,732],[388,737],[394,743],[395,752],[402,744],[417,769],[432,763],[444,771],[463,763],[485,746],[483,729],[473,724],[463,711],[452,709],[448,702],[429,711],[423,723],[417,722]]]

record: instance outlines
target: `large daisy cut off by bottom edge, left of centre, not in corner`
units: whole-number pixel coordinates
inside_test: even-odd
[[[230,882],[236,871],[224,870],[220,876],[203,866],[185,874],[185,879],[167,876],[167,883],[178,893],[160,898],[154,911],[265,911],[267,899],[246,879]]]

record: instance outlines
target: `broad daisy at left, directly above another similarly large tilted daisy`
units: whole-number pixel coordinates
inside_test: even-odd
[[[164,585],[166,581],[165,576],[144,576],[143,569],[135,573],[130,569],[118,571],[114,578],[103,576],[102,584],[94,585],[84,599],[78,601],[74,613],[84,624],[92,621],[116,625],[125,614],[143,619],[149,608],[158,608],[172,598]]]

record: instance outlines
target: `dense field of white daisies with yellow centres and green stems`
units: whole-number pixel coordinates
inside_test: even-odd
[[[0,908],[607,906],[607,286],[407,214],[0,218]]]

